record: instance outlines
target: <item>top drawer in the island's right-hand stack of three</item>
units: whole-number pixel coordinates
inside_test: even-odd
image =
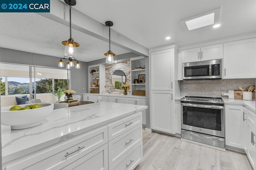
[[[142,123],[142,112],[108,125],[108,141]]]

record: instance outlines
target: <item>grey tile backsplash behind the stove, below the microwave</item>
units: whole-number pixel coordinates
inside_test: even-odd
[[[255,85],[255,79],[183,80],[180,81],[180,95],[222,97],[221,94],[228,93],[228,90],[252,85]]]

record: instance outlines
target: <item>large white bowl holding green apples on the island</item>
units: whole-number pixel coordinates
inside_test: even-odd
[[[52,103],[38,103],[42,107],[37,109],[9,111],[12,106],[1,108],[1,124],[11,126],[11,129],[18,130],[35,127],[48,117],[54,108]],[[19,105],[25,107],[25,105]]]

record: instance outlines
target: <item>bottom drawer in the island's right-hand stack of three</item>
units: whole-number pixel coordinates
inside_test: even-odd
[[[132,148],[124,157],[118,160],[109,170],[133,170],[142,160],[142,142]]]

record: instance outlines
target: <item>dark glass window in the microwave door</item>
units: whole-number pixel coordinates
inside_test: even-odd
[[[209,65],[184,67],[185,77],[209,76]]]

